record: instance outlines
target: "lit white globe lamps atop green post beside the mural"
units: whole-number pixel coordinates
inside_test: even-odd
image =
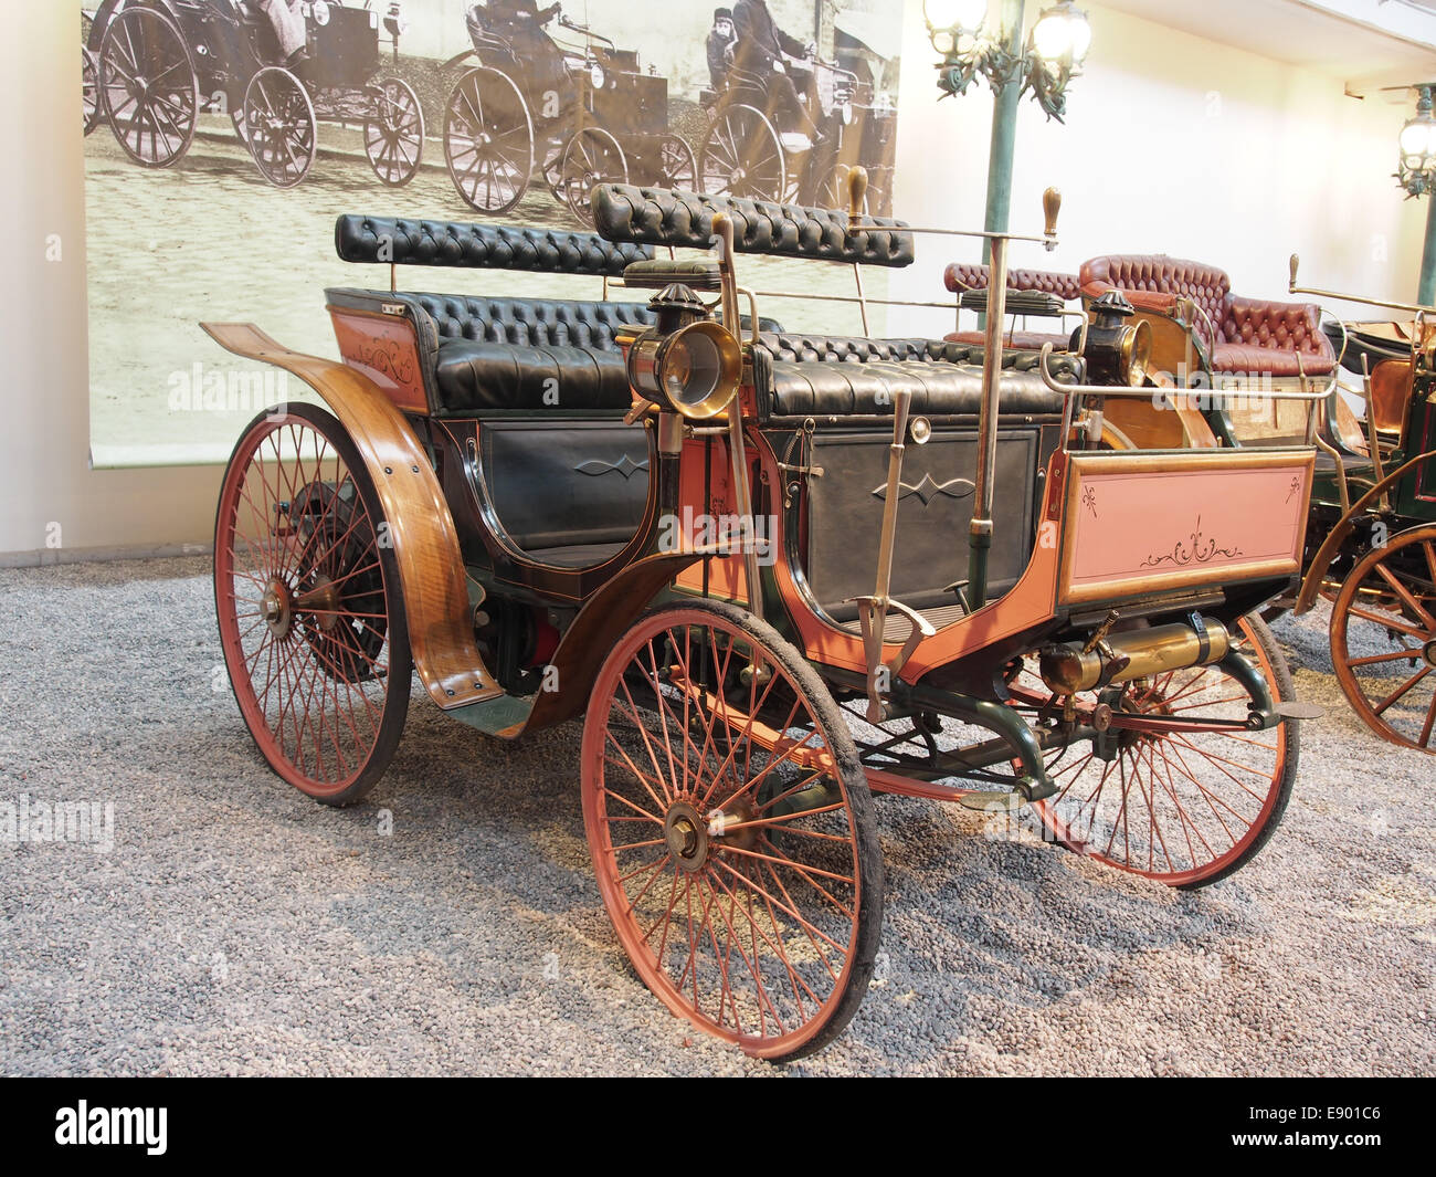
[[[1057,0],[1045,9],[1021,43],[1022,6],[1007,4],[997,30],[987,23],[987,0],[923,0],[923,17],[932,47],[942,55],[938,86],[943,95],[966,93],[978,78],[1001,95],[1017,85],[1018,93],[1031,91],[1048,118],[1063,121],[1067,111],[1067,83],[1077,76],[1087,49],[1091,26],[1087,14],[1073,0]]]

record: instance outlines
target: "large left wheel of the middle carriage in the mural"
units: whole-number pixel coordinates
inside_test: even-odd
[[[488,98],[484,85],[493,88]],[[507,73],[475,66],[454,83],[444,108],[444,162],[471,208],[507,213],[523,198],[534,165],[534,129],[528,105]],[[501,183],[501,172],[511,178]]]

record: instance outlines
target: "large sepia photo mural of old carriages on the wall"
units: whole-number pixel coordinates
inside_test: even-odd
[[[103,0],[80,24],[98,466],[225,457],[283,389],[197,320],[325,352],[314,283],[381,280],[333,256],[340,213],[579,229],[602,181],[841,206],[854,165],[892,213],[902,0]]]

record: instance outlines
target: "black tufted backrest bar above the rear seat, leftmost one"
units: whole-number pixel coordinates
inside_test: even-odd
[[[360,217],[335,221],[335,250],[345,262],[460,266],[478,270],[622,277],[630,262],[653,256],[649,244],[613,244],[593,233],[523,226]]]

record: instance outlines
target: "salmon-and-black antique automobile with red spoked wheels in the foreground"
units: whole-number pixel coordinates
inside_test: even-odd
[[[863,216],[862,180],[846,211],[602,184],[597,234],[343,216],[340,257],[389,280],[327,292],[342,361],[205,325],[323,401],[260,414],[220,493],[220,634],[267,763],[360,799],[411,668],[500,739],[582,717],[619,943],[669,1010],[770,1059],[833,1039],[873,976],[873,792],[1202,887],[1297,773],[1254,611],[1300,571],[1313,447],[1101,448],[1103,407],[1150,395],[1143,339],[998,336],[1010,241],[1055,241],[1054,191],[1044,233],[987,234],[984,345],[763,318],[745,257],[836,283],[939,231]],[[603,292],[424,293],[409,266]]]

